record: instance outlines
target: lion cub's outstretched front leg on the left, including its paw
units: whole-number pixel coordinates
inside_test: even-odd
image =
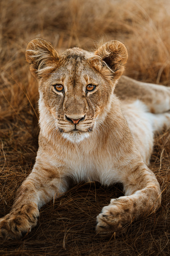
[[[59,177],[59,168],[43,169],[36,163],[32,173],[17,190],[14,205],[5,217],[0,219],[0,239],[17,239],[30,232],[37,224],[41,206],[67,191],[65,178]]]

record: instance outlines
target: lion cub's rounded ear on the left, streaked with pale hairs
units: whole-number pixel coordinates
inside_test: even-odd
[[[57,68],[59,57],[51,43],[37,38],[28,43],[26,60],[30,63],[30,71],[33,76],[41,78]]]

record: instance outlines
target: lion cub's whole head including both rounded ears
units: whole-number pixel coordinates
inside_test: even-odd
[[[26,59],[39,83],[40,127],[43,115],[69,141],[88,137],[110,109],[127,58],[119,41],[105,43],[94,53],[74,47],[58,54],[47,41],[32,40]]]

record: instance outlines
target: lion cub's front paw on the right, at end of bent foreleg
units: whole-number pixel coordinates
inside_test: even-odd
[[[112,199],[108,206],[103,207],[97,216],[96,232],[102,237],[112,236],[125,232],[126,224],[130,222],[131,214],[129,200],[126,197]]]

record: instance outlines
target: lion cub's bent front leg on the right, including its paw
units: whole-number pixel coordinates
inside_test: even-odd
[[[112,199],[97,216],[96,231],[104,236],[121,233],[127,224],[160,207],[159,183],[145,164],[133,168],[131,172],[124,170],[120,176],[125,196]]]

